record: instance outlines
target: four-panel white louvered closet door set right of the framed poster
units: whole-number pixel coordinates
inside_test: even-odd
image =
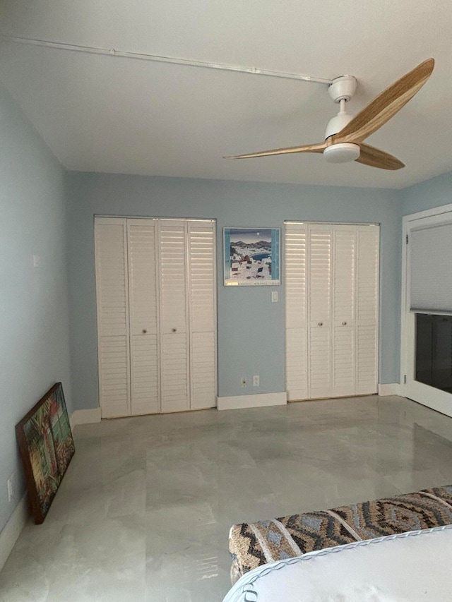
[[[287,222],[285,287],[287,399],[375,393],[379,226]]]

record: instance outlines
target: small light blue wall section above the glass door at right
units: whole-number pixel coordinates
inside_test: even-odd
[[[401,215],[449,205],[452,203],[452,171],[404,188],[399,195]]]

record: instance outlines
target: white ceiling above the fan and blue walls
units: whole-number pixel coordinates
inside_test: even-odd
[[[321,83],[4,39],[0,80],[71,170],[402,188],[452,169],[451,0],[4,0],[4,36],[358,80],[349,111],[424,59],[417,96],[369,140],[384,171],[320,155],[222,155],[323,140]]]

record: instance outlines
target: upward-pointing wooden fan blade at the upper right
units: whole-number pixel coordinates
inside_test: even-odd
[[[431,76],[435,61],[428,59],[390,85],[364,107],[340,132],[333,143],[359,144],[386,124],[418,92]]]

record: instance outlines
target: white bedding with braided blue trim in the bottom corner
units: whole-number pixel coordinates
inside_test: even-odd
[[[451,602],[452,525],[272,562],[223,602]]]

